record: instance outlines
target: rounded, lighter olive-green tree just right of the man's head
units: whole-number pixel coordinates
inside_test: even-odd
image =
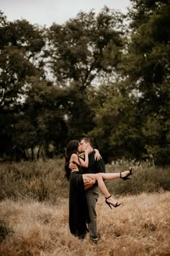
[[[95,101],[93,108],[97,114],[95,127],[88,136],[94,137],[106,162],[122,157],[139,159],[143,153],[140,127],[136,123],[136,99],[125,88],[125,82],[107,83],[91,96],[90,103]]]

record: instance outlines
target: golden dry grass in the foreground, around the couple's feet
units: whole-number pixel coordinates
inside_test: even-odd
[[[1,256],[169,256],[170,192],[120,196],[110,210],[101,195],[97,202],[100,240],[91,244],[68,229],[68,199],[57,205],[35,200],[0,202]]]

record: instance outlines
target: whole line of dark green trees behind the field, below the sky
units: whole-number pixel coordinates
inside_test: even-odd
[[[84,136],[105,161],[170,162],[170,1],[63,25],[0,12],[1,159],[51,158]]]

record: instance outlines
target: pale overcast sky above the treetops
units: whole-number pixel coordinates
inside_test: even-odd
[[[80,11],[101,11],[106,5],[110,9],[127,12],[130,0],[0,0],[0,10],[7,20],[26,19],[32,24],[62,24],[76,17]]]

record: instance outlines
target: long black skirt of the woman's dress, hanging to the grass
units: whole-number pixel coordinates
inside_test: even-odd
[[[83,239],[88,232],[86,223],[89,222],[83,177],[79,171],[73,171],[69,180],[69,227],[71,234]]]

